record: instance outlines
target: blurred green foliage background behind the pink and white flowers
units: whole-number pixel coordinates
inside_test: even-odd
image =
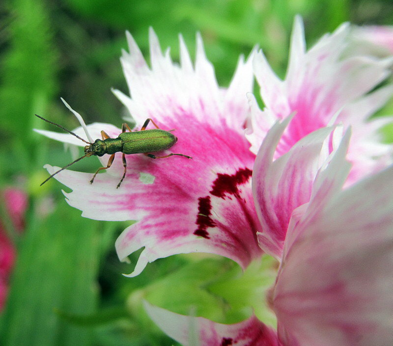
[[[239,278],[238,267],[225,259],[174,256],[148,265],[137,278],[123,277],[121,273],[130,272],[131,266],[118,262],[114,240],[130,222],[82,218],[66,204],[58,182],[39,186],[47,177],[42,168],[45,163],[63,166],[71,155],[60,143],[32,132],[32,128],[48,128],[33,114],[69,129],[77,127],[75,117],[60,102],[63,97],[86,123],[120,127],[124,111],[111,88],[128,91],[119,63],[121,48],[127,48],[124,32],[133,34],[147,57],[149,26],[158,34],[162,48],[171,47],[175,61],[178,33],[194,55],[199,31],[222,86],[228,85],[239,54],[247,55],[255,44],[263,48],[282,77],[295,14],[304,19],[310,46],[344,21],[391,25],[393,3],[0,2],[0,189],[17,187],[28,195],[22,234],[15,234],[1,207],[3,228],[17,252],[7,303],[0,312],[1,345],[172,345],[144,315],[142,297],[184,314],[193,305],[198,315],[220,322],[238,321],[250,313],[244,307],[252,306],[257,298],[242,301],[233,292],[225,292],[223,287],[228,285],[221,283],[232,280],[233,287],[237,283],[247,290],[257,274]],[[98,160],[82,160],[73,169],[93,172],[98,166]]]

